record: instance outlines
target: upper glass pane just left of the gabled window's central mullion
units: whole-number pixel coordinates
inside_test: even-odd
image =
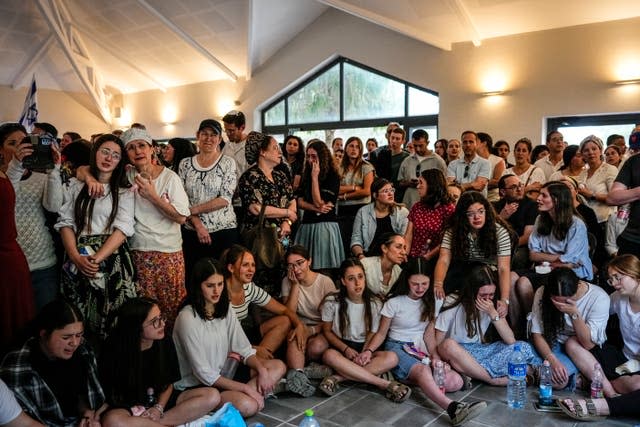
[[[340,120],[340,65],[336,64],[289,97],[289,123]]]

